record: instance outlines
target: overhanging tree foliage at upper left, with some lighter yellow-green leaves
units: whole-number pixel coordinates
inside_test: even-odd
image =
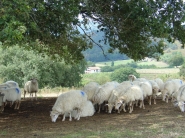
[[[80,61],[81,52],[91,44],[75,27],[79,4],[79,0],[1,1],[0,41],[4,47],[29,43],[26,49],[58,54],[67,63]]]

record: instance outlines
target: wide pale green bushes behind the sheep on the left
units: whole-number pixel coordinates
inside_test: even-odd
[[[44,86],[79,86],[81,74],[84,73],[84,61],[78,64],[68,64],[51,60],[47,55],[41,55],[33,50],[13,46],[6,50],[0,49],[0,78],[4,81],[14,80],[24,86],[24,83],[35,77],[39,87]]]

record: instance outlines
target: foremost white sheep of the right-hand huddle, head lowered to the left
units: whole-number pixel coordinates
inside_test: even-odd
[[[115,102],[115,109],[118,110],[122,104],[128,104],[129,113],[132,113],[135,101],[140,101],[140,108],[143,107],[143,109],[145,109],[143,100],[144,97],[141,87],[139,87],[138,85],[132,85],[126,90],[125,93],[119,95],[118,99]]]

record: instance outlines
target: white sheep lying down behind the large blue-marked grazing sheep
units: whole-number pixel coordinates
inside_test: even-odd
[[[91,101],[86,101],[85,105],[82,107],[82,111],[80,113],[80,117],[88,117],[88,116],[93,116],[95,113],[95,109],[94,109],[94,105],[92,104]],[[69,114],[66,113],[66,117],[68,117]],[[78,117],[78,113],[77,110],[73,110],[71,112],[71,117],[74,117],[75,119],[77,119]]]

